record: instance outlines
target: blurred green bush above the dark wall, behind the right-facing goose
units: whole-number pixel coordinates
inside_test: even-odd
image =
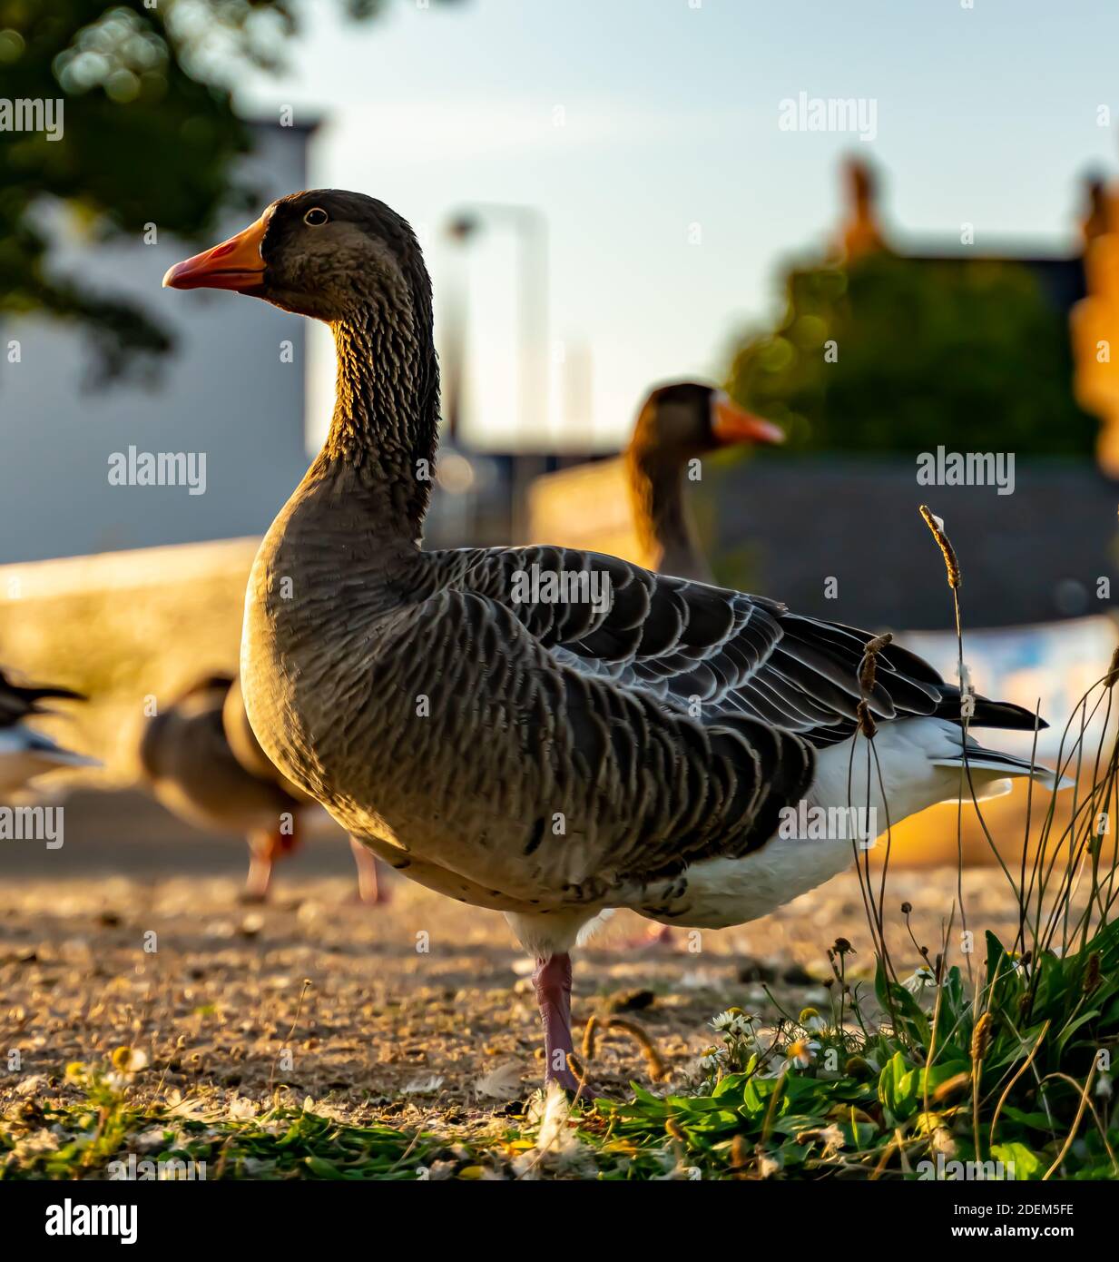
[[[1085,454],[1096,423],[1072,371],[1067,313],[1027,266],[879,252],[790,270],[783,314],[742,343],[729,389],[792,451]]]

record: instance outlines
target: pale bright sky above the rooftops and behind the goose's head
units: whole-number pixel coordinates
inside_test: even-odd
[[[583,445],[618,442],[651,382],[722,372],[733,331],[773,310],[780,260],[834,225],[844,154],[882,170],[901,240],[952,242],[969,221],[979,250],[1071,246],[1082,174],[1119,172],[1106,0],[395,0],[362,25],[305,8],[289,71],[242,81],[240,101],[325,120],[313,180],[411,220],[436,318],[464,269],[482,442],[518,427],[515,252],[495,228],[455,264],[443,225],[463,204],[546,216],[550,384],[526,424]],[[782,131],[800,92],[873,100],[877,136]],[[322,416],[331,356],[314,351]]]

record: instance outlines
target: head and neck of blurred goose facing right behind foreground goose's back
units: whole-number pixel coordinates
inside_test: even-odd
[[[712,569],[684,497],[689,463],[738,443],[783,442],[783,430],[714,386],[674,381],[653,390],[626,448],[633,525],[650,568],[710,583]]]

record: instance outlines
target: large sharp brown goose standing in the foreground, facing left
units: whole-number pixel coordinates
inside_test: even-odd
[[[897,823],[959,796],[959,688],[893,644],[860,685],[867,631],[602,554],[423,550],[431,288],[385,203],[280,198],[164,285],[333,329],[329,433],[249,581],[249,719],[284,775],[397,871],[506,914],[536,959],[549,1079],[575,1087],[569,953],[601,912],[722,928],[850,864],[841,829],[810,839],[796,822],[848,813],[850,758],[869,761],[864,692],[881,780],[855,804]],[[971,700],[974,727],[1034,726]],[[966,740],[978,794],[1031,774]]]

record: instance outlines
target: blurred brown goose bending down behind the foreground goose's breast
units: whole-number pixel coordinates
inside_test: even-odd
[[[278,858],[299,842],[312,799],[269,762],[245,717],[232,675],[206,675],[151,716],[140,766],[155,798],[180,819],[249,842],[246,902],[267,897]],[[351,839],[363,902],[380,901],[376,859]]]

